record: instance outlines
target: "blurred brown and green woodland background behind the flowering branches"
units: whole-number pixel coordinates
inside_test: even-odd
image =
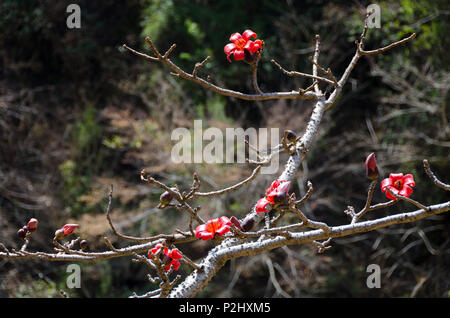
[[[66,7],[81,8],[81,28],[66,26]],[[186,229],[176,210],[158,210],[161,191],[140,181],[145,168],[169,185],[189,188],[196,171],[203,190],[246,178],[246,164],[173,164],[174,128],[278,127],[300,134],[311,104],[301,100],[246,102],[225,98],[169,75],[162,65],[121,49],[149,52],[150,36],[187,72],[207,55],[199,75],[213,83],[252,92],[245,63],[226,60],[223,47],[234,32],[252,29],[265,41],[259,64],[263,91],[307,87],[288,70],[311,72],[315,34],[321,36],[319,63],[340,77],[355,51],[370,1],[38,1],[0,3],[0,241],[21,242],[16,232],[39,219],[29,250],[52,251],[51,239],[63,224],[80,224],[90,250],[106,250],[109,185],[115,187],[112,218],[120,231],[149,236]],[[307,180],[314,192],[304,207],[330,225],[349,222],[344,210],[364,206],[368,180],[364,160],[375,152],[381,176],[412,173],[412,198],[423,204],[448,200],[426,177],[427,158],[444,182],[450,181],[448,89],[450,3],[379,1],[381,28],[369,29],[366,48],[387,45],[412,32],[416,39],[383,55],[363,58],[343,94],[325,114],[307,162],[292,191],[299,197]],[[325,87],[323,87],[325,89]],[[286,158],[280,158],[283,163]],[[282,169],[282,165],[280,167]],[[219,199],[198,200],[201,215],[242,217],[277,176],[260,175],[247,187]],[[377,188],[374,202],[386,198]],[[399,203],[366,219],[416,210]],[[285,217],[285,222],[294,219]],[[201,297],[448,297],[450,295],[449,216],[335,239],[316,254],[311,245],[290,246],[228,262]],[[209,242],[178,246],[193,260]],[[366,268],[378,264],[381,288],[366,287]],[[0,296],[127,297],[156,286],[147,267],[122,257],[79,263],[80,289],[68,289],[68,263],[0,260]],[[269,275],[273,271],[272,279]],[[185,276],[190,268],[182,266]],[[278,285],[276,283],[278,283]]]

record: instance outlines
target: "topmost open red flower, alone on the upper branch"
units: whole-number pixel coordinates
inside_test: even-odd
[[[242,35],[240,33],[233,33],[230,36],[230,42],[223,48],[227,55],[228,61],[231,62],[230,55],[234,55],[236,61],[245,59],[245,52],[247,50],[250,54],[254,54],[262,45],[261,40],[251,41],[250,38],[256,38],[256,33],[252,30],[246,30]]]

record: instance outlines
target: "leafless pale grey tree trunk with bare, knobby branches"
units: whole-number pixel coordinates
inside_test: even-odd
[[[288,71],[284,69],[280,63],[272,60],[280,71],[288,76],[302,76],[309,78],[312,83],[309,87],[299,88],[298,90],[286,91],[286,92],[262,92],[258,85],[257,70],[260,54],[259,51],[255,58],[250,63],[250,69],[252,72],[252,83],[255,93],[243,93],[239,91],[229,90],[213,84],[210,76],[206,79],[199,76],[199,70],[208,62],[210,57],[206,57],[202,62],[196,63],[193,71],[188,73],[178,67],[170,58],[170,54],[175,49],[173,44],[165,53],[161,53],[153,44],[150,38],[146,38],[151,52],[153,55],[148,55],[142,52],[138,52],[127,45],[123,47],[149,61],[161,63],[171,69],[171,74],[177,78],[185,79],[194,83],[197,83],[203,88],[214,91],[217,94],[224,96],[234,97],[249,101],[265,101],[276,99],[304,99],[311,101],[312,113],[309,121],[306,125],[305,131],[299,137],[292,137],[289,132],[285,133],[280,144],[272,149],[269,153],[259,153],[258,160],[250,161],[249,164],[255,165],[254,170],[248,176],[248,178],[238,182],[234,185],[226,187],[221,190],[211,192],[201,192],[201,184],[197,174],[193,176],[193,183],[189,189],[179,189],[178,187],[170,187],[147,174],[146,171],[142,171],[141,180],[148,183],[150,186],[156,186],[161,190],[167,192],[171,200],[168,202],[161,202],[158,208],[176,208],[177,210],[188,213],[190,222],[186,225],[185,230],[174,229],[170,234],[158,234],[151,237],[134,237],[120,233],[114,225],[110,212],[112,210],[112,197],[113,187],[111,186],[109,192],[109,203],[106,211],[106,218],[109,225],[118,238],[130,241],[131,243],[122,248],[116,248],[111,243],[110,239],[104,237],[107,250],[105,251],[89,251],[86,252],[83,248],[79,247],[81,238],[78,237],[74,240],[62,242],[61,232],[55,234],[53,238],[53,245],[55,252],[47,253],[40,251],[27,250],[29,241],[32,238],[31,233],[26,234],[24,237],[24,244],[19,250],[8,249],[5,244],[0,243],[0,258],[7,260],[20,260],[20,259],[38,259],[47,261],[73,261],[73,262],[95,262],[105,259],[117,258],[117,257],[133,257],[134,262],[144,263],[148,266],[152,273],[156,273],[153,277],[148,275],[148,279],[152,283],[158,283],[159,288],[149,291],[143,295],[133,294],[131,297],[195,297],[203,290],[210,280],[216,275],[216,273],[226,264],[227,261],[244,257],[244,256],[256,256],[263,255],[264,261],[267,264],[270,272],[270,279],[272,284],[280,290],[280,286],[277,284],[274,277],[274,268],[277,268],[278,264],[273,263],[268,257],[265,257],[265,253],[277,249],[287,249],[289,245],[299,244],[314,244],[318,248],[318,252],[324,252],[330,247],[330,242],[334,238],[345,237],[354,235],[357,233],[365,233],[373,231],[375,229],[381,229],[390,225],[415,222],[420,219],[426,218],[431,215],[444,213],[450,210],[450,201],[437,203],[434,205],[424,205],[409,197],[401,196],[390,192],[395,199],[382,202],[372,203],[372,198],[376,186],[377,180],[372,180],[368,186],[366,203],[360,209],[348,206],[343,211],[350,217],[349,224],[343,224],[340,226],[329,226],[324,222],[315,221],[308,218],[302,212],[302,205],[310,198],[313,191],[313,185],[311,182],[307,182],[307,191],[304,197],[297,200],[295,195],[288,195],[284,201],[274,204],[271,209],[271,215],[269,213],[257,213],[255,206],[249,209],[249,212],[245,217],[240,220],[235,220],[234,223],[229,225],[230,231],[223,236],[215,236],[214,241],[217,243],[214,248],[208,251],[207,256],[200,262],[192,261],[188,255],[180,254],[180,262],[187,264],[192,268],[192,272],[184,277],[176,275],[173,277],[173,268],[166,271],[167,259],[162,257],[163,249],[157,250],[155,253],[149,253],[148,257],[141,255],[151,249],[155,249],[157,244],[161,244],[164,247],[174,249],[176,246],[183,243],[192,242],[198,240],[195,235],[194,226],[205,223],[198,212],[200,207],[195,206],[195,199],[197,198],[216,198],[226,193],[235,191],[242,187],[247,186],[249,183],[255,180],[260,173],[263,166],[269,164],[271,160],[281,154],[286,153],[289,155],[284,170],[277,180],[291,181],[295,178],[297,171],[305,161],[308,152],[313,147],[314,137],[316,136],[324,113],[333,107],[338,96],[341,94],[344,85],[349,79],[349,75],[355,68],[357,62],[362,57],[373,56],[379,53],[384,53],[396,46],[402,45],[415,37],[415,34],[410,35],[407,38],[401,39],[388,46],[381,47],[373,50],[366,50],[364,47],[364,41],[366,33],[368,31],[367,20],[364,26],[363,32],[359,40],[355,41],[356,49],[353,58],[345,69],[344,73],[339,77],[335,77],[329,68],[324,68],[319,63],[320,55],[320,37],[316,35],[316,41],[314,46],[314,54],[310,58],[312,63],[312,74],[307,74],[297,71]],[[323,91],[324,85],[332,86],[332,90],[327,93]],[[420,106],[420,105],[418,105]],[[420,106],[422,107],[422,106]],[[295,127],[291,127],[295,129]],[[423,161],[424,169],[437,188],[436,190],[449,191],[450,185],[445,184],[438,179],[437,176],[431,171],[430,164],[426,159]],[[389,190],[388,190],[389,191]],[[387,208],[395,205],[399,201],[406,201],[414,208],[410,212],[402,212],[386,217],[376,218],[369,221],[363,221],[364,216],[374,210]],[[173,203],[176,202],[176,203]],[[297,217],[297,222],[289,225],[278,226],[279,221],[287,214],[292,213]],[[287,249],[287,252],[289,250]],[[279,266],[278,266],[279,267]],[[278,269],[280,271],[280,269]],[[282,271],[281,271],[282,272]],[[179,283],[181,280],[181,283]]]

